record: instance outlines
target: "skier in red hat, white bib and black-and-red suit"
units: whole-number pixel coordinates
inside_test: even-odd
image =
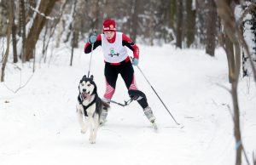
[[[103,95],[103,100],[110,102],[112,99],[119,74],[125,81],[125,86],[128,90],[137,90],[132,65],[138,65],[139,48],[129,37],[125,36],[124,33],[116,31],[114,20],[108,19],[103,22],[103,34],[98,36],[96,36],[95,33],[90,34],[89,41],[84,47],[85,54],[91,52],[92,45],[93,49],[102,46],[104,54],[106,92]],[[125,47],[130,48],[131,51],[133,51],[132,61],[130,60]],[[137,102],[143,107],[144,114],[149,122],[154,123],[155,117],[153,111],[148,106],[146,96],[144,95],[144,97],[141,100],[137,100]],[[107,116],[108,112],[102,111],[101,123],[106,122]]]

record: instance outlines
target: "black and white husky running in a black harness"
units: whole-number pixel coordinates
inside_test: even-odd
[[[79,83],[77,114],[81,126],[81,133],[85,134],[87,128],[90,127],[89,141],[91,144],[96,143],[96,134],[100,125],[103,108],[108,111],[109,104],[98,97],[93,76],[84,76]]]

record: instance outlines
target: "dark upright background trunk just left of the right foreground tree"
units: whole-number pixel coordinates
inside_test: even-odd
[[[216,21],[217,10],[214,0],[207,0],[208,19],[207,19],[207,48],[206,53],[214,56],[216,42]]]

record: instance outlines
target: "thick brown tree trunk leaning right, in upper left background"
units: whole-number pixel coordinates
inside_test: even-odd
[[[51,10],[55,6],[57,0],[44,0],[41,1],[39,5],[39,12],[48,16]],[[33,57],[33,51],[35,49],[36,43],[38,42],[38,37],[42,31],[46,17],[41,14],[37,14],[35,20],[33,21],[32,28],[29,31],[28,37],[26,38],[25,48],[24,48],[24,61],[29,61]]]

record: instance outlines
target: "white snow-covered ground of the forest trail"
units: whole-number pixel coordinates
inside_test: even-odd
[[[230,88],[224,51],[218,49],[212,58],[202,50],[167,45],[140,48],[143,73],[183,128],[136,68],[137,86],[147,94],[159,131],[153,131],[137,103],[112,104],[107,124],[91,145],[88,134],[80,134],[75,114],[79,79],[87,74],[90,54],[83,54],[81,46],[71,67],[70,50],[61,48],[50,63],[36,63],[33,75],[32,64],[20,66],[21,72],[8,64],[6,81],[0,83],[0,164],[235,164],[231,97],[222,87]],[[91,73],[102,95],[101,48],[94,52]],[[16,94],[6,87],[15,90],[31,75]],[[242,141],[250,161],[256,151],[255,86],[248,78],[239,86]],[[120,77],[113,100],[128,100]]]

